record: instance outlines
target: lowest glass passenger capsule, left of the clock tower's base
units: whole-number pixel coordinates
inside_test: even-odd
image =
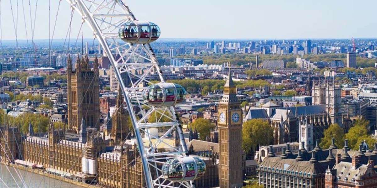
[[[162,165],[162,175],[172,182],[191,181],[205,173],[205,162],[197,157],[179,157]]]

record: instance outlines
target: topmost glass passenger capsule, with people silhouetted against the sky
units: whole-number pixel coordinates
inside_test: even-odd
[[[128,21],[119,29],[119,37],[132,44],[147,44],[160,37],[160,28],[149,21]]]

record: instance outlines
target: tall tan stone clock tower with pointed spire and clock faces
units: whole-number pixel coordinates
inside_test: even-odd
[[[242,113],[236,86],[230,75],[219,102],[219,182],[220,188],[242,187]]]

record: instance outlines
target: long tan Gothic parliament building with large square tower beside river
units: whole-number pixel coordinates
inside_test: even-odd
[[[48,173],[80,182],[109,188],[145,186],[141,160],[136,146],[120,144],[128,135],[127,112],[118,93],[109,135],[100,132],[98,59],[90,67],[87,56],[78,57],[75,68],[67,60],[68,126],[54,127],[48,133],[34,133],[29,125],[27,135],[8,123],[0,127],[0,151],[4,164],[25,161]],[[109,120],[110,121],[110,120]],[[111,133],[111,134],[110,134]],[[111,139],[105,139],[110,136]]]

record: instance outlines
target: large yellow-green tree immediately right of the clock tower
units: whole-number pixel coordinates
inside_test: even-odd
[[[268,121],[251,119],[242,125],[242,150],[250,154],[256,146],[266,146],[273,142],[273,128]]]

